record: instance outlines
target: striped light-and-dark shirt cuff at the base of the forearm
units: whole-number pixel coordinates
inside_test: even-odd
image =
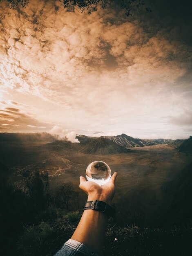
[[[69,239],[54,256],[98,256],[98,254],[83,243]]]

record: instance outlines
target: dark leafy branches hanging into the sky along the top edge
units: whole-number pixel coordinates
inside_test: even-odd
[[[6,0],[4,0],[6,1]],[[55,0],[60,2],[65,9],[74,9],[75,7],[88,14],[97,11],[98,7],[106,9],[112,3],[117,4],[125,10],[126,16],[132,16],[136,9],[144,7],[146,11],[152,11],[151,7],[145,4],[143,0]],[[0,0],[1,2],[1,0]],[[24,8],[29,4],[29,0],[7,0],[13,9]]]

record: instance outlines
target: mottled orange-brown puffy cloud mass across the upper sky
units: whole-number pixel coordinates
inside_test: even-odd
[[[7,9],[2,20],[5,90],[14,88],[76,108],[78,101],[71,104],[74,97],[83,96],[85,89],[94,90],[102,80],[108,80],[106,87],[114,90],[119,81],[124,87],[149,86],[156,77],[172,82],[184,74],[190,62],[187,45],[168,39],[168,28],[159,28],[154,35],[153,27],[146,33],[145,24],[123,20],[121,14],[110,23],[103,11],[87,16],[77,10],[56,11],[49,4],[31,3],[20,11],[20,18]],[[113,74],[107,72],[110,56],[117,63]]]

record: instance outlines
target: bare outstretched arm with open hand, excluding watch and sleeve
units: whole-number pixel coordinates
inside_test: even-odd
[[[117,173],[115,172],[103,186],[80,177],[80,189],[88,195],[87,201],[100,200],[111,204],[115,193],[114,182],[116,176]],[[85,210],[71,239],[83,243],[98,255],[102,255],[107,220],[108,217],[103,212],[92,209]]]

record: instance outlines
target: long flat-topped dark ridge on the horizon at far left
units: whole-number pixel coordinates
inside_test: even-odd
[[[47,132],[37,132],[37,133],[9,133],[9,132],[1,132],[0,133],[0,141],[56,141],[58,139],[57,135],[51,135]]]

